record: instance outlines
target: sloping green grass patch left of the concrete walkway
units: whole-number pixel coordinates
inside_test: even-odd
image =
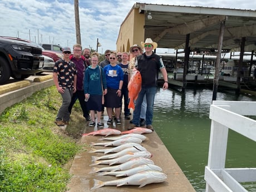
[[[0,191],[66,191],[85,120],[78,102],[66,130],[54,124],[62,99],[55,86],[0,115]]]

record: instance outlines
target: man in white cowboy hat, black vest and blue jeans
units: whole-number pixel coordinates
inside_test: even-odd
[[[142,85],[141,91],[139,92],[139,96],[136,100],[134,117],[129,129],[140,126],[141,104],[143,102],[144,95],[146,95],[146,127],[147,129],[154,130],[152,126],[152,119],[158,71],[160,70],[164,77],[164,90],[168,88],[168,75],[162,58],[153,52],[157,47],[157,43],[153,42],[151,38],[147,38],[145,42],[141,42],[141,46],[144,47],[145,52],[142,55],[137,56],[135,67],[141,73]]]

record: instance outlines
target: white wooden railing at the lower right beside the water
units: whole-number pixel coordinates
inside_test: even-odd
[[[256,121],[245,115],[256,116],[256,102],[213,101],[210,106],[210,145],[204,174],[206,192],[245,192],[239,182],[256,181],[256,168],[225,169],[229,129],[256,141]]]

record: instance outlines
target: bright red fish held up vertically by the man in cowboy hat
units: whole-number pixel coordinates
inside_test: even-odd
[[[139,92],[141,90],[141,82],[142,78],[140,75],[140,71],[135,71],[131,76],[131,80],[128,83],[128,91],[129,91],[129,105],[128,108],[135,109],[134,101],[137,99]]]

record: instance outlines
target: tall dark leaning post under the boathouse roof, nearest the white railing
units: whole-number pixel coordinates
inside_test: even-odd
[[[215,74],[214,74],[214,79],[213,79],[213,99],[212,99],[212,101],[215,101],[217,98],[218,83],[219,83],[219,71],[220,71],[220,58],[221,58],[221,50],[222,50],[222,45],[223,45],[224,29],[225,29],[225,21],[222,21],[220,23],[218,53],[217,53],[216,62],[215,62]]]

